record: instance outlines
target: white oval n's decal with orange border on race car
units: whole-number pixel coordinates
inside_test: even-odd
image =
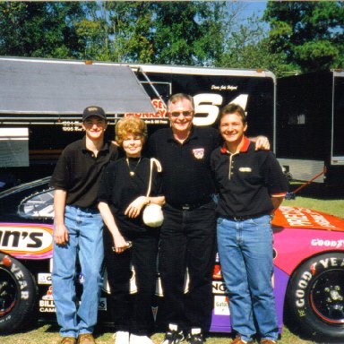
[[[50,258],[53,250],[52,233],[52,225],[2,223],[0,250],[16,258]]]

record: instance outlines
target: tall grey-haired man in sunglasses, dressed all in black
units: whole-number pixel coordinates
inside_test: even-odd
[[[211,324],[216,216],[210,158],[221,139],[214,128],[194,126],[193,116],[193,97],[173,95],[168,100],[171,128],[150,137],[150,155],[161,162],[167,202],[159,244],[168,329],[163,344],[179,343],[185,335],[189,343],[202,344],[202,334]],[[267,143],[264,139],[262,146]]]

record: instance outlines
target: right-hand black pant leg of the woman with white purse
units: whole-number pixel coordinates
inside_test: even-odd
[[[153,330],[152,302],[157,279],[158,230],[133,238],[132,262],[137,293],[132,297],[131,333],[147,335]]]

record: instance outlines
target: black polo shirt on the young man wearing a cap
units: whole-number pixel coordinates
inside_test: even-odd
[[[80,208],[96,208],[102,170],[117,159],[118,150],[104,143],[97,158],[86,149],[86,138],[65,147],[57,161],[50,185],[67,192],[66,204]]]

